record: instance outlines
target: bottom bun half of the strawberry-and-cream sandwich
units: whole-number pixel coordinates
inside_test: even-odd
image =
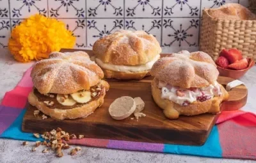
[[[156,78],[152,81],[152,97],[156,104],[164,110],[164,115],[170,119],[177,119],[179,115],[199,115],[202,113],[216,114],[220,112],[220,104],[222,101],[228,99],[228,92],[220,85],[221,96],[212,97],[204,102],[195,101],[194,103],[188,104],[187,106],[181,106],[180,104],[174,103],[168,99],[161,98],[161,89],[158,88],[158,81]]]

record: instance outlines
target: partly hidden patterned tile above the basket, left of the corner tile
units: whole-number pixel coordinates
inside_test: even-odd
[[[246,0],[242,0],[246,1]],[[201,9],[204,10],[204,8],[218,8],[226,3],[238,3],[238,0],[202,0],[202,6]],[[202,13],[201,13],[202,16]]]

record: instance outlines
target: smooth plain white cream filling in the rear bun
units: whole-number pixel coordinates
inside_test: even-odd
[[[95,62],[102,68],[108,69],[111,71],[119,71],[119,72],[140,72],[147,71],[152,68],[153,64],[160,58],[160,55],[156,55],[153,60],[147,62],[146,64],[140,64],[136,66],[125,66],[125,65],[115,65],[104,63],[100,59],[95,58]]]

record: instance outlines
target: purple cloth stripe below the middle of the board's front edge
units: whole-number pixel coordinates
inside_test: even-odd
[[[109,140],[108,148],[148,152],[163,152],[164,144]]]

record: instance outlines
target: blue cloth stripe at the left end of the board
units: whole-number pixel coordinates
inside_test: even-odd
[[[21,124],[23,117],[26,113],[26,109],[22,110],[19,117],[16,118],[16,120],[13,122],[12,125],[6,131],[1,134],[1,138],[11,138],[11,139],[20,139],[20,140],[26,140],[26,141],[42,141],[43,139],[35,138],[33,134],[26,133],[21,131]]]

